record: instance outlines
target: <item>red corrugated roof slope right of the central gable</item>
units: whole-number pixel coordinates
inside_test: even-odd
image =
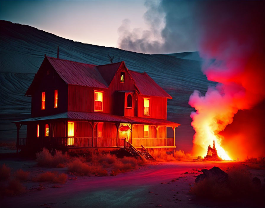
[[[172,97],[167,94],[167,92],[165,92],[158,84],[156,84],[156,82],[151,77],[149,77],[146,72],[139,73],[131,70],[129,70],[129,72],[132,75],[132,79],[134,80],[136,87],[140,91],[140,94],[172,99]]]

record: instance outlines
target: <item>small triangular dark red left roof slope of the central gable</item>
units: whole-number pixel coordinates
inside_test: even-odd
[[[114,64],[98,65],[96,67],[100,72],[101,76],[103,77],[103,79],[109,85],[121,64],[122,62],[118,62]]]

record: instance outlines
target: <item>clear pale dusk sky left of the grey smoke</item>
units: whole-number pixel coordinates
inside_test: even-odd
[[[1,1],[1,20],[36,27],[63,38],[117,47],[118,28],[146,28],[145,1]]]

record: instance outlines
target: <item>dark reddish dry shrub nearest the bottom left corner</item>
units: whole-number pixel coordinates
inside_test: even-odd
[[[25,191],[26,188],[17,179],[10,180],[6,187],[1,187],[1,194],[3,195],[22,194]]]

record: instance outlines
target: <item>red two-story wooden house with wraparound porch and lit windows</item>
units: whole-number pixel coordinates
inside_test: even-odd
[[[32,99],[31,118],[14,122],[17,149],[86,152],[120,148],[125,141],[136,149],[176,147],[180,124],[167,121],[172,97],[123,61],[96,66],[45,55],[25,95]],[[27,125],[26,138],[19,137],[21,125]]]

